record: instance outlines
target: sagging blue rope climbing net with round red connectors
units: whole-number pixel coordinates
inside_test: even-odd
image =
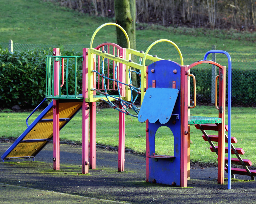
[[[104,52],[104,51],[103,51]],[[119,57],[118,55],[116,55],[116,57]],[[142,61],[142,57],[140,57],[140,65],[141,65],[141,61]],[[132,60],[129,60],[129,62],[132,62]],[[137,97],[141,94],[140,90],[141,90],[141,70],[139,70],[139,72],[137,71],[134,71],[132,70],[132,67],[129,67],[129,81],[130,81],[130,84],[126,84],[126,83],[123,83],[123,82],[120,82],[118,81],[118,78],[117,78],[117,67],[118,67],[118,63],[115,62],[115,79],[111,79],[109,77],[106,77],[105,74],[104,74],[104,57],[102,57],[102,60],[101,60],[101,69],[102,69],[102,74],[99,73],[98,71],[96,70],[92,70],[92,72],[95,72],[99,75],[101,75],[101,77],[103,78],[103,85],[104,85],[104,90],[105,92],[101,92],[100,90],[97,90],[97,89],[93,89],[94,91],[96,92],[99,92],[101,94],[104,94],[106,96],[106,99],[108,101],[106,101],[105,99],[100,99],[100,101],[105,101],[106,103],[108,103],[111,107],[113,107],[114,109],[126,114],[126,115],[130,115],[130,116],[133,116],[133,117],[136,117],[138,118],[138,114],[139,114],[139,110],[140,108],[137,108],[134,103],[137,99]],[[136,88],[132,85],[132,77],[131,77],[131,72],[134,72],[136,73],[136,75],[139,75],[140,76],[140,87],[139,88]],[[108,92],[107,92],[107,87],[106,87],[106,82],[105,80],[111,80],[113,81],[113,83],[115,82],[117,88],[118,88],[118,95],[119,95],[119,98],[113,96],[113,95],[109,95]],[[125,101],[125,100],[122,100],[122,96],[121,96],[121,93],[120,93],[120,87],[119,87],[119,84],[123,84],[123,85],[126,85],[129,87],[129,90],[131,91],[131,103],[129,103],[128,101]],[[136,92],[136,96],[135,98],[133,99],[133,92]],[[117,107],[117,105],[113,104],[110,100],[109,100],[109,97],[111,98],[114,98],[115,101],[119,101],[119,103],[122,105],[123,109]],[[127,107],[129,109],[133,109],[135,111],[135,113],[137,115],[133,115],[130,113],[130,111],[127,110]]]

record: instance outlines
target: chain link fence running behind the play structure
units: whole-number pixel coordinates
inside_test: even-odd
[[[101,42],[102,43],[102,42]],[[136,50],[143,50],[146,52],[148,46],[152,42],[137,40]],[[0,42],[0,46],[4,49],[11,51],[11,44]],[[100,44],[100,43],[99,43]],[[88,48],[87,44],[77,45],[34,45],[34,44],[20,44],[13,43],[13,50],[33,50],[33,49],[47,49],[59,47],[60,50],[78,52],[82,55],[82,48]],[[94,45],[98,45],[94,42]],[[179,45],[178,45],[179,46]],[[213,47],[214,48],[214,47]],[[203,48],[190,48],[190,47],[179,47],[181,50],[184,64],[189,65],[198,60],[202,60],[205,53],[211,49]],[[149,54],[157,55],[163,59],[171,59],[180,63],[180,57],[174,46],[167,42],[157,43],[152,47]],[[256,106],[256,53],[252,52],[229,52],[232,59],[232,106]],[[228,60],[224,54],[212,54],[209,55],[208,60],[216,61],[221,65],[226,65],[226,76],[228,76]],[[138,60],[137,60],[138,61]],[[149,65],[151,62],[146,61]],[[211,64],[201,64],[191,69],[191,74],[196,77],[196,101],[197,104],[214,104],[215,103],[215,77],[219,74],[218,69]],[[226,77],[226,100],[228,90],[228,77]],[[193,101],[193,80],[191,80],[191,101]]]

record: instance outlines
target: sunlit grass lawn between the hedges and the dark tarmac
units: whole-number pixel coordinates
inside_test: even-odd
[[[226,110],[227,111],[227,110]],[[29,124],[37,111],[29,120]],[[29,112],[13,113],[1,112],[0,137],[18,137],[26,129],[26,118]],[[213,106],[196,106],[191,110],[191,115],[217,116],[218,111]],[[226,113],[227,116],[227,113]],[[227,118],[226,118],[227,123]],[[146,152],[146,123],[138,122],[137,118],[126,116],[126,138],[125,147],[133,149],[138,153]],[[216,163],[217,156],[211,152],[209,143],[202,139],[202,133],[193,125],[191,126],[191,161]],[[234,144],[236,148],[243,148],[243,159],[250,159],[255,166],[256,163],[256,111],[255,108],[232,107],[232,136],[238,140]],[[216,134],[208,131],[209,134]],[[81,142],[82,140],[82,112],[78,114],[61,130],[60,139],[63,141]],[[110,109],[96,110],[96,143],[116,147],[118,145],[118,111]],[[174,155],[172,132],[167,127],[157,130],[155,138],[155,149],[157,154]],[[217,145],[217,143],[216,143]],[[227,143],[226,143],[227,145]],[[226,155],[227,156],[227,155]]]

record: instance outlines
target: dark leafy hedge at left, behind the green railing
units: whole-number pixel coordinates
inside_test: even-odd
[[[46,55],[49,50],[14,52],[0,48],[0,107],[37,106],[45,97]],[[76,53],[63,52],[62,55]],[[77,93],[82,93],[82,59],[78,60]],[[69,93],[74,92],[74,63],[69,63]],[[46,105],[46,104],[45,104]]]

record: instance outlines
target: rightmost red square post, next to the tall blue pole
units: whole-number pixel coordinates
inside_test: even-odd
[[[218,184],[224,184],[225,162],[225,108],[226,108],[226,67],[219,69],[219,138],[218,138]]]

